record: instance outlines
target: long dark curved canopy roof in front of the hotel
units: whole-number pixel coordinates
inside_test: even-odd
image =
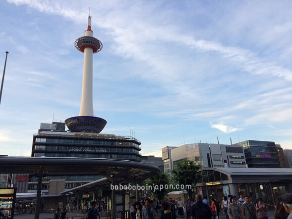
[[[160,172],[140,162],[105,158],[0,157],[0,174],[103,175],[109,180],[144,180]]]

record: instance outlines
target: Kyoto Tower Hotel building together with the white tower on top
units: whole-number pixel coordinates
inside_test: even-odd
[[[102,49],[101,42],[93,37],[91,16],[84,37],[75,41],[75,47],[84,53],[83,84],[79,116],[43,126],[34,134],[32,156],[110,158],[141,162],[141,142],[132,136],[99,133],[106,125],[94,116],[93,109],[93,54]],[[48,128],[49,125],[49,128]],[[48,191],[50,179],[65,179],[65,189],[71,189],[100,178],[98,175],[55,175],[43,179],[42,192]],[[30,176],[28,191],[37,188],[37,177]]]

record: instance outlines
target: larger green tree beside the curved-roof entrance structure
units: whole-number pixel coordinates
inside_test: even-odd
[[[189,198],[193,198],[192,188],[195,187],[201,175],[198,175],[198,170],[202,168],[197,165],[193,160],[186,160],[177,163],[177,167],[172,171],[173,178],[181,185],[191,185],[190,187],[185,187],[188,192]]]

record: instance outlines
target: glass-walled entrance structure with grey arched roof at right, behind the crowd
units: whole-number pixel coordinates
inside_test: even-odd
[[[214,197],[221,202],[223,196],[249,195],[253,200],[262,198],[275,205],[278,196],[292,193],[291,168],[202,168],[195,193]]]

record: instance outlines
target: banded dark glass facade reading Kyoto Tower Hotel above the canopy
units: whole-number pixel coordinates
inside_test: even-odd
[[[141,162],[140,142],[115,135],[88,138],[81,135],[41,134],[34,137],[32,156],[109,158]],[[122,137],[123,138],[123,137]]]

